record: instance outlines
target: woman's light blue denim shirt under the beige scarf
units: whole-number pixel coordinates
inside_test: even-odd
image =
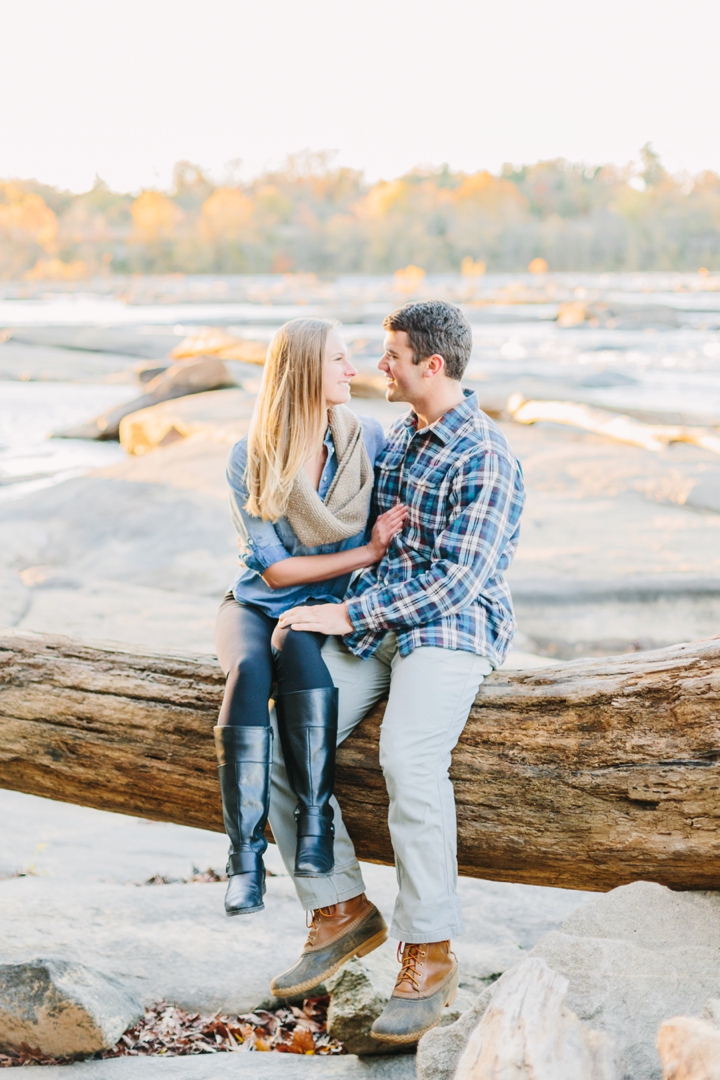
[[[361,417],[363,438],[370,464],[375,462],[385,444],[385,436],[380,423],[371,417]],[[321,476],[317,494],[324,499],[338,471],[338,458],[335,453],[332,435],[328,428],[325,436],[327,460]],[[339,604],[350,583],[350,573],[328,581],[316,581],[305,585],[288,585],[284,589],[271,589],[262,580],[262,573],[274,563],[295,555],[328,555],[337,551],[349,551],[365,543],[367,529],[363,529],[348,540],[337,543],[317,544],[309,548],[300,543],[286,517],[277,522],[263,522],[260,517],[248,514],[247,485],[245,483],[245,467],[247,464],[247,437],[235,443],[228,458],[227,477],[230,485],[230,513],[237,529],[241,570],[232,586],[232,593],[240,604],[254,604],[272,618],[277,618],[288,608],[304,604],[308,599],[318,599],[324,603]]]

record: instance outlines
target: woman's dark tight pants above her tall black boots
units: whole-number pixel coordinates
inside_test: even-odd
[[[215,625],[215,647],[226,675],[220,726],[269,725],[273,683],[277,693],[334,686],[321,654],[325,635],[276,627],[277,619],[252,604],[239,604],[232,593],[222,600]]]

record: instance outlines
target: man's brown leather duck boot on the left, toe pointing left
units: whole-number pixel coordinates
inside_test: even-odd
[[[270,989],[276,998],[305,994],[334,975],[354,956],[366,956],[388,940],[382,915],[365,893],[352,900],[320,907],[312,913],[310,933],[300,959]]]

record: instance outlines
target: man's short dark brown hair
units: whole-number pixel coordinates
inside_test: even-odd
[[[460,308],[445,300],[404,303],[384,319],[385,330],[405,330],[413,361],[438,353],[445,360],[449,378],[462,379],[473,351],[473,332]]]

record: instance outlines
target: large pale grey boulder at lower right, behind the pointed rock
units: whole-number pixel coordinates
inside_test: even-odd
[[[663,1022],[698,1016],[720,995],[720,893],[623,886],[578,908],[530,955],[567,978],[568,1008],[614,1040],[633,1080],[661,1080]],[[421,1040],[421,1080],[454,1076],[492,994],[491,987],[456,1024]]]

